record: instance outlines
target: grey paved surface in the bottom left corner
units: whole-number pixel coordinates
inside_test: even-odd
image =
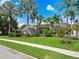
[[[36,59],[11,48],[0,46],[0,59]]]

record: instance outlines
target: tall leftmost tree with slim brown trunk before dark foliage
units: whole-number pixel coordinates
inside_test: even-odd
[[[9,22],[9,30],[8,30],[8,34],[11,33],[11,22],[12,19],[14,18],[14,14],[15,14],[15,10],[16,10],[16,6],[14,3],[12,3],[11,1],[5,2],[3,5],[3,13],[5,14],[5,16],[8,19]]]

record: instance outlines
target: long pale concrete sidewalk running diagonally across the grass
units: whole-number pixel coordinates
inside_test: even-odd
[[[61,53],[61,54],[65,54],[65,55],[68,55],[68,56],[79,58],[79,52],[76,52],[76,51],[70,51],[70,50],[54,48],[54,47],[49,47],[49,46],[44,46],[44,45],[39,45],[39,44],[34,44],[34,43],[28,43],[28,42],[21,42],[21,41],[16,41],[16,40],[8,40],[8,39],[0,39],[0,40],[8,41],[8,42],[14,42],[14,43],[17,43],[17,44],[22,44],[22,45],[28,45],[28,46],[32,46],[32,47],[41,48],[41,49],[46,49],[46,50],[49,50],[49,51],[55,51],[55,52],[58,52],[58,53]]]

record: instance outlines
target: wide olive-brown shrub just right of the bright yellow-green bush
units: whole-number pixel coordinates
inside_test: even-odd
[[[65,26],[65,27],[60,26],[60,27],[54,28],[54,31],[55,31],[55,35],[59,37],[63,37],[65,35],[70,34],[71,28],[69,26]]]

